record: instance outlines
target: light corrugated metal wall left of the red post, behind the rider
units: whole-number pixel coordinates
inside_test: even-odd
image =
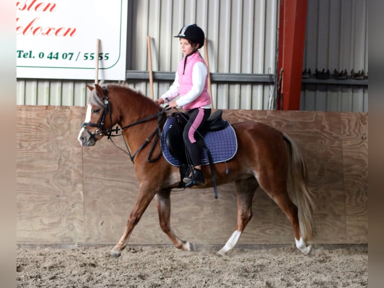
[[[176,71],[182,54],[178,39],[173,36],[184,24],[197,23],[206,32],[210,72],[274,73],[277,0],[132,0],[128,7],[129,71],[148,70],[147,35],[151,37],[153,71]],[[206,57],[204,49],[201,53]],[[149,81],[132,79],[129,75],[128,84],[149,96]],[[171,82],[155,81],[154,98],[161,96]],[[18,79],[17,103],[85,105],[88,93],[85,83]],[[270,83],[213,81],[214,107],[266,109],[272,89],[273,77]]]

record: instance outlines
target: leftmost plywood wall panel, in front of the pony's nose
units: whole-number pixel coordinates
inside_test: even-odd
[[[80,109],[18,106],[17,118],[17,239],[82,241]]]

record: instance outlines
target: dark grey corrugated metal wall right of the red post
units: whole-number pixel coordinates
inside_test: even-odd
[[[367,6],[367,0],[308,0],[303,69],[367,73]],[[301,110],[368,111],[367,80],[354,85],[308,82],[302,85]]]

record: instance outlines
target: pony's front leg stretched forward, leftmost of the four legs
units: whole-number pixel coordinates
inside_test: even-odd
[[[111,256],[119,257],[121,255],[121,251],[125,248],[133,228],[139,222],[156,192],[157,191],[149,184],[149,182],[146,182],[146,184],[140,183],[140,190],[136,197],[136,203],[131,211],[131,214],[129,215],[127,226],[125,227],[124,233],[119,242],[110,251]]]

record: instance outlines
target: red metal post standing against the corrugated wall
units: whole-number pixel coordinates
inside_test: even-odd
[[[277,109],[299,110],[307,18],[307,0],[280,0]],[[283,77],[280,79],[280,71]]]

